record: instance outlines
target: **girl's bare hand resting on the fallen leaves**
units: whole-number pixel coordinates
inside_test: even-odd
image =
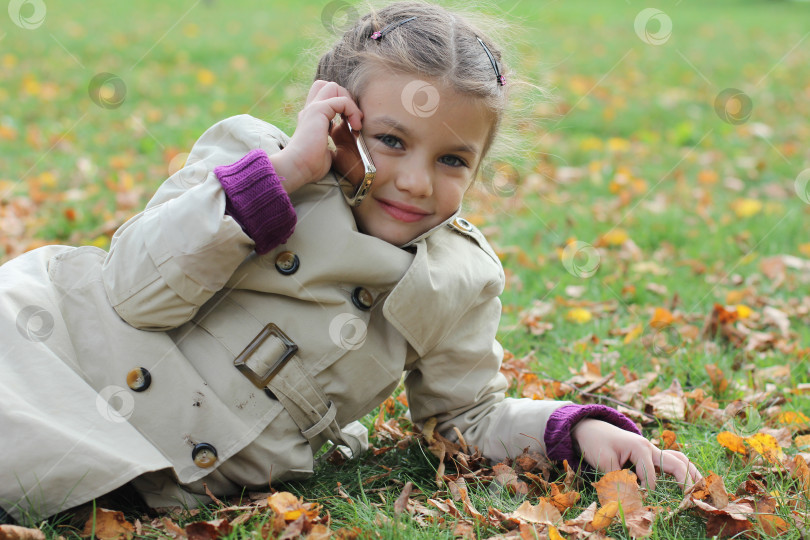
[[[681,452],[659,450],[650,441],[607,422],[585,418],[571,431],[583,459],[601,472],[621,469],[631,461],[642,484],[655,489],[656,470],[671,474],[686,490],[702,478]]]

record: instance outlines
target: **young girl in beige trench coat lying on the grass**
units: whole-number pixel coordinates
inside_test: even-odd
[[[502,460],[700,477],[611,408],[505,398],[500,262],[459,210],[506,107],[480,29],[427,3],[362,17],[320,59],[292,137],[208,129],[109,253],[0,267],[0,507],[49,516],[132,482],[153,506],[305,477],[405,372],[410,415]],[[328,82],[327,82],[328,81]],[[414,99],[417,92],[428,97]],[[351,207],[330,121],[377,167]],[[204,499],[204,497],[203,497]]]

